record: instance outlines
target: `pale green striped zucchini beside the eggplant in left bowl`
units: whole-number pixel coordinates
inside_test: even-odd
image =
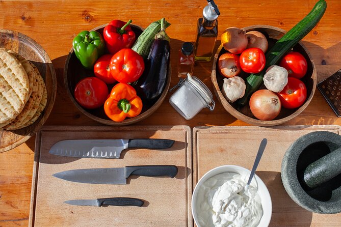
[[[142,32],[139,38],[135,41],[132,49],[138,52],[144,60],[147,59],[151,44],[154,42],[154,37],[161,31],[161,20],[154,21]],[[165,29],[170,25],[165,20]]]

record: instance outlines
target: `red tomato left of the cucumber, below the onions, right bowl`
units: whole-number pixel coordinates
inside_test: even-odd
[[[239,62],[244,72],[258,73],[265,67],[265,54],[260,48],[248,48],[242,52]]]

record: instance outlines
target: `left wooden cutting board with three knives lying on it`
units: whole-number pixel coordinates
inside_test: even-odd
[[[120,159],[70,158],[51,155],[63,139],[165,138],[166,150],[129,149]],[[192,196],[191,129],[188,126],[49,126],[36,137],[29,226],[189,226]],[[122,158],[123,157],[123,158]],[[81,168],[127,165],[176,165],[175,178],[129,177],[127,185],[69,182],[51,175]],[[143,207],[72,206],[66,200],[135,197]]]

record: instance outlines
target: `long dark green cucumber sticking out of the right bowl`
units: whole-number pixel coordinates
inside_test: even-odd
[[[327,3],[325,0],[320,0],[298,24],[280,38],[275,45],[266,54],[266,66],[263,71],[258,74],[250,74],[246,78],[246,90],[243,98],[238,100],[239,106],[244,106],[248,103],[252,93],[257,91],[263,84],[263,76],[269,66],[275,65],[284,56],[284,54],[293,48],[303,37],[305,37],[314,26],[322,18],[326,11]]]

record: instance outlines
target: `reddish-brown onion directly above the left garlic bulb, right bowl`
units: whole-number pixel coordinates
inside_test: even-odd
[[[239,56],[233,53],[222,54],[218,60],[218,67],[220,73],[227,78],[237,76],[242,71]]]

